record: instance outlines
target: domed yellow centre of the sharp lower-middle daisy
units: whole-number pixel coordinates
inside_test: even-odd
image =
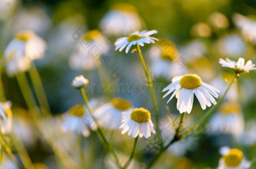
[[[133,121],[136,121],[138,123],[144,123],[146,121],[149,121],[151,118],[150,112],[145,108],[135,108],[133,111],[131,111],[131,119]]]

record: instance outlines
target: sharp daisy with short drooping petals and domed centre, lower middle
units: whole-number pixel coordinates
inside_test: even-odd
[[[151,136],[151,132],[156,133],[151,114],[147,109],[135,108],[133,111],[124,111],[122,114],[122,125],[119,127],[123,129],[122,134],[128,131],[128,136],[132,134],[133,138],[144,136],[147,139]]]

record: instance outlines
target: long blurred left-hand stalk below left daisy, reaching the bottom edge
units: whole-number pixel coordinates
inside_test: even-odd
[[[77,164],[73,159],[69,156],[65,150],[60,149],[60,146],[57,144],[55,140],[55,136],[52,135],[51,132],[48,134],[44,131],[44,126],[42,124],[42,115],[40,109],[37,107],[37,103],[34,99],[33,93],[29,87],[29,82],[26,79],[26,75],[24,73],[19,73],[16,75],[18,84],[21,88],[21,93],[24,96],[25,102],[29,108],[29,112],[34,119],[37,128],[39,129],[40,133],[44,137],[45,141],[52,147],[52,151],[55,155],[60,159],[60,161],[64,164],[66,168],[78,168]]]

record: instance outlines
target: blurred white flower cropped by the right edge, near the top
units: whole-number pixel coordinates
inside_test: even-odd
[[[246,40],[256,44],[256,21],[239,13],[233,15],[235,25],[241,29]]]

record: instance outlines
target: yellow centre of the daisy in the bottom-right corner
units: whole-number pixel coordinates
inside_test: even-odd
[[[230,149],[229,153],[224,156],[224,161],[227,166],[238,166],[243,160],[243,152],[239,149]]]

